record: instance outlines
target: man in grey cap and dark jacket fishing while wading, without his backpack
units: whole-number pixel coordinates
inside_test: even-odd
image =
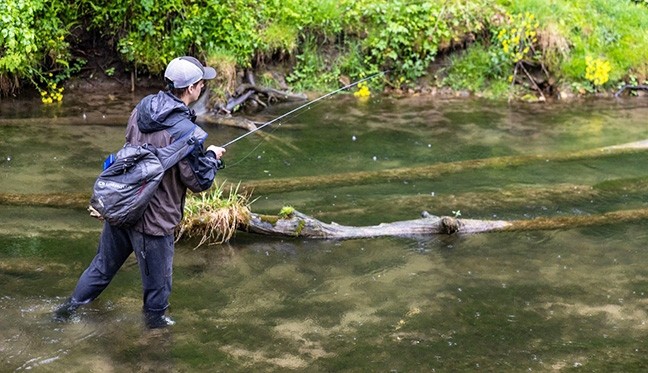
[[[211,187],[225,149],[214,145],[206,150],[207,134],[194,124],[189,105],[198,100],[205,80],[216,71],[189,56],[172,60],[164,73],[167,90],[142,99],[133,110],[126,141],[164,147],[194,131],[193,151],[168,169],[144,215],[128,228],[104,223],[97,255],[83,272],[66,302],[55,311],[57,320],[66,320],[81,305],[93,301],[108,286],[119,268],[135,252],[142,277],[143,313],[149,328],[175,322],[165,315],[171,294],[174,231],[182,219],[187,189],[201,192]]]

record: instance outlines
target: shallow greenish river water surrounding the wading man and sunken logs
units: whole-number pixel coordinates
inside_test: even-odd
[[[141,97],[0,105],[0,194],[90,194]],[[274,106],[259,121],[291,107]],[[85,118],[85,119],[84,119]],[[645,98],[513,104],[338,95],[228,148],[217,182],[339,175],[648,139]],[[240,130],[205,125],[222,144]],[[513,159],[513,158],[511,158]],[[330,222],[421,211],[472,219],[646,208],[645,152],[506,163],[435,178],[255,193]],[[28,198],[27,198],[28,199]],[[641,371],[648,366],[648,222],[348,241],[237,233],[176,246],[170,314],[148,331],[129,260],[70,323],[51,311],[101,226],[78,205],[0,205],[0,371]]]

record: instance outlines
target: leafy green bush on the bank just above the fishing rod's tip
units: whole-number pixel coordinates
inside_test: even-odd
[[[487,1],[486,1],[487,2]],[[439,50],[481,32],[490,12],[485,1],[347,1],[347,22],[361,38],[365,71],[390,70],[397,86],[426,74]],[[481,11],[479,11],[481,10]]]

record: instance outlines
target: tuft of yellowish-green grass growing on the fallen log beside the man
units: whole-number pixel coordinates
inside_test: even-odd
[[[205,243],[221,244],[229,241],[237,228],[250,220],[250,194],[239,194],[238,185],[230,186],[225,195],[225,182],[214,184],[200,194],[187,195],[184,217],[176,230],[176,241],[181,237],[200,237],[197,247]]]

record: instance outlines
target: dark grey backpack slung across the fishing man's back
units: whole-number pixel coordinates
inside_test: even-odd
[[[194,136],[196,128],[162,148],[126,143],[117,154],[111,154],[94,183],[90,214],[114,226],[135,224],[144,215],[164,172],[191,153],[198,143]]]

